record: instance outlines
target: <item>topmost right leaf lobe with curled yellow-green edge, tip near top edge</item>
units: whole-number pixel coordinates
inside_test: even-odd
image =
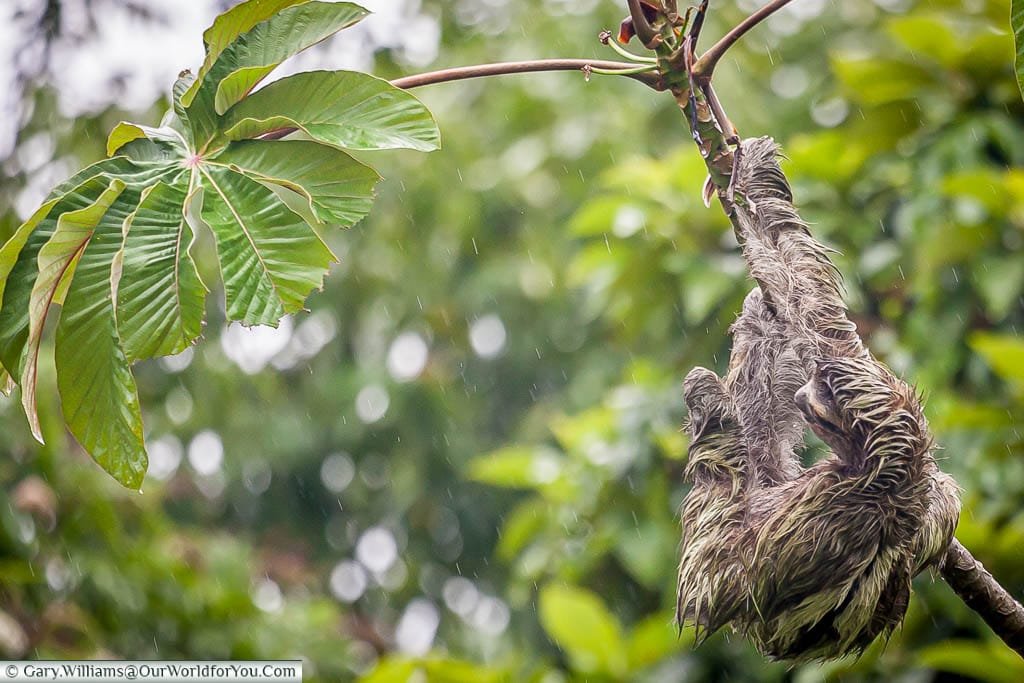
[[[234,71],[217,84],[214,109],[223,114],[288,57],[368,14],[350,2],[307,2],[289,7],[249,31],[230,52]]]

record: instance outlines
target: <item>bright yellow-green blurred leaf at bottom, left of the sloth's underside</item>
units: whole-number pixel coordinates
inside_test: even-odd
[[[549,584],[541,589],[541,624],[581,673],[622,676],[627,669],[622,627],[590,591]]]

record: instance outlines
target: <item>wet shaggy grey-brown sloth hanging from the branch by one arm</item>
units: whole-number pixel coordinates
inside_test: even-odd
[[[677,620],[729,625],[773,658],[862,651],[903,618],[910,581],[959,514],[913,389],[864,348],[826,249],[793,207],[770,138],[746,140],[734,226],[758,288],[724,379],[683,385],[692,484]],[[811,467],[807,426],[831,453]]]

